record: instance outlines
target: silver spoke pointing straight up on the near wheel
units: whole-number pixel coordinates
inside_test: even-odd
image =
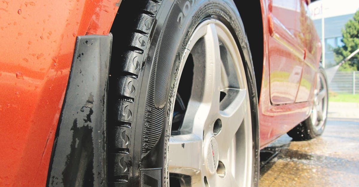
[[[192,131],[198,136],[203,134],[205,124],[212,123],[219,115],[221,63],[214,24],[206,26],[201,44],[192,49],[193,56],[198,62],[194,67],[193,82],[193,87],[197,90],[192,91],[182,126],[183,130]]]

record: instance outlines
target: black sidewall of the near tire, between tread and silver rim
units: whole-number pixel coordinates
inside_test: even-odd
[[[252,186],[257,186],[259,177],[257,89],[248,40],[235,4],[232,0],[169,0],[163,1],[158,12],[153,30],[149,36],[148,45],[144,51],[146,59],[144,60],[145,66],[141,70],[143,73],[141,73],[139,81],[140,97],[136,98],[138,100],[136,124],[141,124],[142,121],[145,121],[145,117],[148,115],[148,112],[146,112],[147,107],[151,106],[153,113],[155,111],[157,113],[162,112],[164,119],[163,129],[157,144],[145,154],[140,151],[143,148],[144,129],[135,129],[135,134],[142,136],[142,141],[140,142],[136,139],[134,142],[134,169],[139,171],[140,168],[155,167],[161,161],[162,166],[160,167],[164,168],[162,169],[162,186],[168,186],[169,119],[172,116],[171,109],[176,96],[174,90],[176,90],[179,83],[179,70],[182,65],[180,64],[180,59],[196,26],[205,18],[214,18],[224,23],[232,32],[246,71],[252,116]],[[154,90],[156,95],[149,95],[150,90]],[[157,160],[157,165],[150,164],[156,163],[154,160]],[[139,177],[136,173],[134,176]]]

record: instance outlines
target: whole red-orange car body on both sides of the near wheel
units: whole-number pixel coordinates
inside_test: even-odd
[[[261,0],[261,148],[306,119],[312,105],[321,45],[308,1],[291,1]],[[107,35],[120,4],[0,2],[0,186],[45,186],[76,36]]]

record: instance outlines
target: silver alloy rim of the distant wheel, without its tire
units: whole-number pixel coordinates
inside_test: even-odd
[[[314,129],[319,131],[324,127],[327,118],[327,85],[322,73],[318,73],[316,89],[314,90],[314,104],[311,113],[311,121]]]

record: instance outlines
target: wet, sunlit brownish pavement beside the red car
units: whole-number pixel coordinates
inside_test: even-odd
[[[261,168],[260,186],[359,186],[359,119],[328,118],[322,136],[291,140],[265,148],[278,154]]]

